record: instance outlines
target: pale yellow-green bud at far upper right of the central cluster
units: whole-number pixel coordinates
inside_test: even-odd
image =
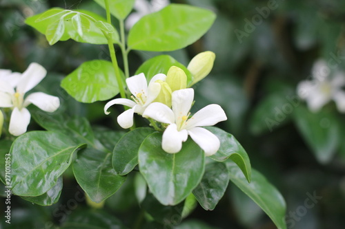
[[[197,54],[197,56],[194,56],[187,67],[189,72],[194,76],[191,85],[194,85],[195,83],[205,78],[211,72],[214,62],[214,52],[206,51]]]

